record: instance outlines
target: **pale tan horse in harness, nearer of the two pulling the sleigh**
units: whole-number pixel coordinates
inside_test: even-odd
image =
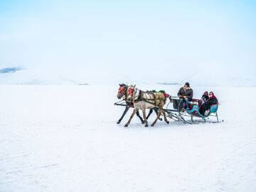
[[[169,96],[169,100],[171,101],[171,96]],[[139,110],[142,110],[145,127],[148,127],[148,121],[146,119],[146,109],[152,109],[154,107],[159,107],[159,113],[156,117],[156,120],[151,124],[153,127],[156,124],[157,119],[159,119],[160,114],[164,115],[164,121],[169,124],[169,121],[166,118],[166,114],[163,110],[163,107],[166,103],[167,97],[164,95],[163,92],[143,92],[134,86],[130,85],[127,89],[127,102],[134,102],[134,111],[129,118],[127,124],[124,127],[128,127],[130,124],[132,117],[134,114]]]

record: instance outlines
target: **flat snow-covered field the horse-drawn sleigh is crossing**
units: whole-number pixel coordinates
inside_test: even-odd
[[[131,109],[116,124],[118,87],[1,85],[0,191],[256,191],[255,87],[192,86],[215,92],[225,122],[153,128],[124,128]]]

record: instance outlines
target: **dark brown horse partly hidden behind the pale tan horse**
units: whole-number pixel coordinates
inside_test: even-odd
[[[128,89],[128,86],[125,85],[124,83],[122,84],[119,84],[119,89],[118,89],[118,92],[117,92],[117,98],[120,100],[122,97],[124,97],[124,100],[126,102],[126,107],[125,107],[125,110],[122,114],[122,117],[118,120],[117,124],[119,124],[122,119],[124,118],[124,115],[127,113],[127,111],[129,110],[130,107],[134,108],[134,103],[133,102],[127,102],[127,89]],[[146,119],[149,118],[150,114],[153,112],[153,109],[150,109],[149,110],[149,114],[148,116],[146,117]],[[156,116],[158,115],[158,111],[156,109],[154,109],[154,112],[156,112]],[[139,117],[139,119],[142,121],[142,124],[144,124],[144,120],[142,119],[142,117],[139,115],[139,111],[136,112],[137,116]],[[159,120],[161,121],[162,119],[159,117]]]

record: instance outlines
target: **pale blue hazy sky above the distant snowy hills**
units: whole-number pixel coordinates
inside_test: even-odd
[[[255,1],[0,0],[0,67],[102,80],[203,80],[212,70],[245,78],[256,75],[255,21]]]

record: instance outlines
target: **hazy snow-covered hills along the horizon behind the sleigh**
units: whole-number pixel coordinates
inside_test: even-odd
[[[254,75],[218,75],[193,73],[170,75],[138,75],[125,70],[70,70],[68,68],[0,68],[0,85],[113,85],[119,82],[136,85],[177,85],[190,82],[193,86],[256,87]]]

